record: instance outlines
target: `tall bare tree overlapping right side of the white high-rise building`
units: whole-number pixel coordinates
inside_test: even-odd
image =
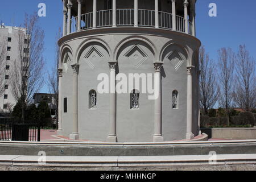
[[[18,33],[19,59],[15,60],[12,72],[12,93],[16,101],[22,105],[22,121],[25,107],[31,101],[34,93],[43,86],[43,48],[44,31],[38,26],[36,13],[25,15],[24,28]]]

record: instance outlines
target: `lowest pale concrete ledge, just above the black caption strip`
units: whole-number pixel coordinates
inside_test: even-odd
[[[41,164],[40,164],[40,163]],[[256,154],[217,155],[212,162],[209,155],[185,156],[40,156],[0,155],[0,166],[29,167],[159,167],[256,164]]]

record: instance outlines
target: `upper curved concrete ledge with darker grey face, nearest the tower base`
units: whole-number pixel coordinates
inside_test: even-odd
[[[166,156],[256,154],[256,140],[214,142],[96,143],[96,142],[0,142],[0,155],[47,156]]]

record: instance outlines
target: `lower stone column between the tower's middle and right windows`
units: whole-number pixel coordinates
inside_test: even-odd
[[[153,142],[163,142],[162,136],[162,78],[161,71],[163,62],[155,62],[154,88],[155,88],[155,129]]]

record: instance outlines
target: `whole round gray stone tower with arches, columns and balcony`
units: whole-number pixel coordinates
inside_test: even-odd
[[[104,142],[198,135],[201,43],[195,37],[195,4],[63,0],[59,134]],[[102,73],[109,78],[109,93],[98,90]],[[140,80],[152,75],[159,97],[149,100],[143,88],[117,93],[123,78],[135,73]]]

